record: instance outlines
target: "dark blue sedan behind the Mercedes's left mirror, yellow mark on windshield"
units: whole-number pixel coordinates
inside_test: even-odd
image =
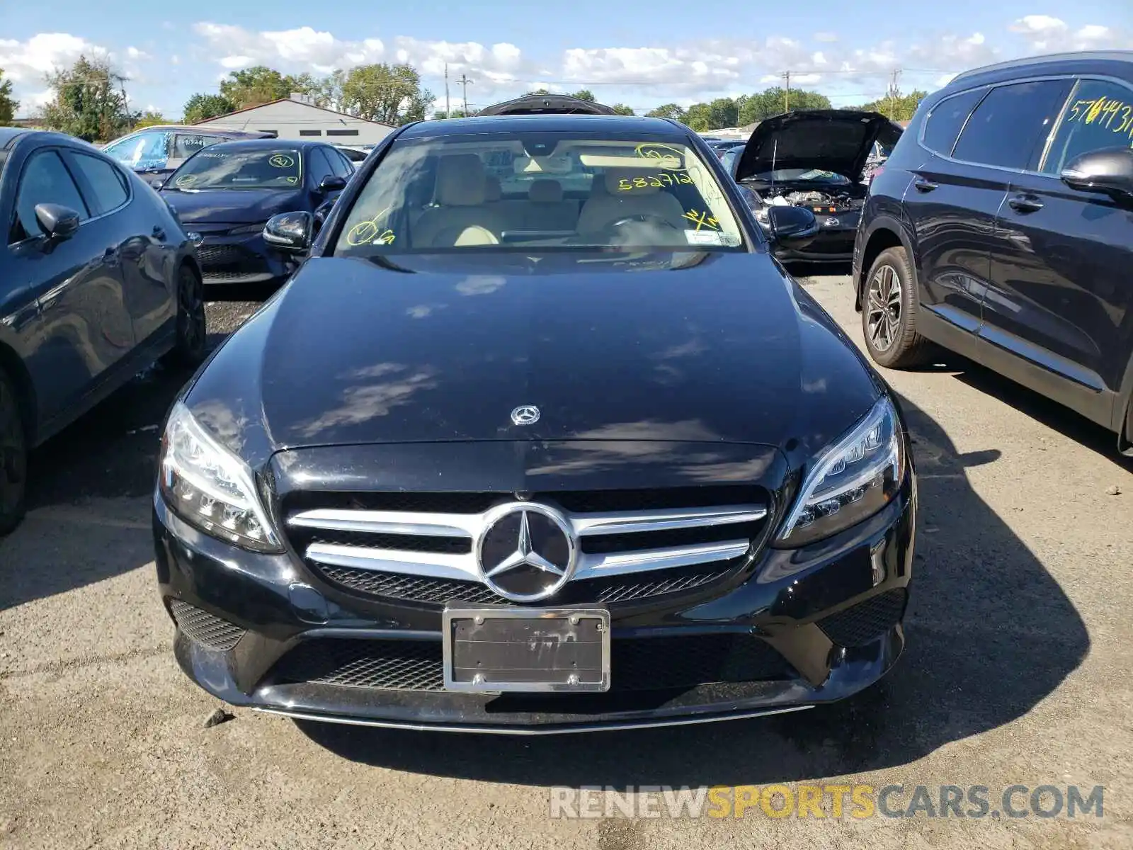
[[[264,241],[264,223],[306,211],[321,224],[353,171],[338,147],[322,142],[223,142],[186,160],[157,188],[189,229],[206,284],[272,284],[296,262]]]

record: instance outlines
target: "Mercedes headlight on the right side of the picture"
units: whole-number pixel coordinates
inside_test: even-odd
[[[777,542],[801,546],[872,516],[897,494],[905,443],[897,411],[881,397],[861,422],[815,458]]]

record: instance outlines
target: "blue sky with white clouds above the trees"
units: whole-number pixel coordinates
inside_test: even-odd
[[[894,71],[901,91],[931,91],[988,62],[1107,48],[1133,49],[1133,0],[0,0],[0,68],[18,117],[50,97],[45,74],[84,52],[128,77],[135,109],[172,120],[194,92],[253,65],[318,75],[408,61],[444,109],[448,63],[453,108],[467,75],[472,109],[586,87],[646,111],[758,92],[784,71],[792,87],[852,105],[884,95]]]

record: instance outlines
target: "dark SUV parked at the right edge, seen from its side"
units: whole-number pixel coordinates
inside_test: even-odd
[[[866,343],[939,343],[1133,452],[1133,51],[968,71],[921,103],[854,245]]]

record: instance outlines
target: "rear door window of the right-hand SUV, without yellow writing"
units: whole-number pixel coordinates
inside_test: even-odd
[[[993,88],[968,119],[953,156],[985,165],[1036,168],[1068,90],[1068,80]]]

